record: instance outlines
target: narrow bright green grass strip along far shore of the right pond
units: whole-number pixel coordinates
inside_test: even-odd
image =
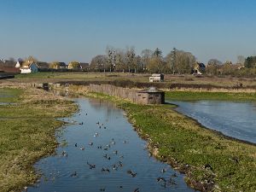
[[[172,101],[256,101],[256,93],[235,93],[235,92],[192,92],[192,91],[167,91],[166,100]]]

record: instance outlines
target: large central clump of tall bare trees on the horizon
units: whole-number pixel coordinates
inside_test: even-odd
[[[94,72],[129,72],[129,73],[191,73],[195,64],[195,55],[183,50],[172,49],[166,56],[159,48],[143,49],[136,55],[134,48],[107,48],[107,55],[96,55],[90,62]]]

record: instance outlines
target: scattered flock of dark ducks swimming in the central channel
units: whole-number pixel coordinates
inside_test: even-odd
[[[79,114],[81,115],[81,114]],[[86,113],[87,115],[87,113]],[[75,123],[74,121],[72,121],[72,123]],[[80,122],[79,125],[84,125],[84,122]],[[103,123],[100,123],[99,121],[96,122],[96,126],[98,129],[103,129],[103,130],[107,130],[107,126],[104,125]],[[97,131],[95,132],[95,134],[93,135],[93,137],[101,137],[102,135],[104,135],[101,131]],[[74,148],[78,148],[81,151],[86,150],[86,148],[96,148],[98,150],[102,150],[102,158],[109,161],[109,160],[115,160],[115,163],[112,166],[102,166],[99,167],[99,169],[101,170],[102,173],[111,173],[111,172],[117,172],[119,171],[119,169],[123,169],[124,168],[124,163],[122,162],[122,160],[125,158],[124,155],[122,155],[121,153],[119,153],[118,150],[114,149],[113,146],[116,145],[116,141],[114,140],[114,138],[112,138],[108,144],[106,145],[96,145],[93,142],[88,143],[88,146],[82,146],[79,143],[75,143],[74,144]],[[126,144],[128,143],[126,140],[124,140],[122,143]],[[95,147],[96,146],[96,147]],[[113,149],[112,149],[113,148]],[[62,151],[61,155],[64,157],[67,157],[67,151]],[[149,157],[151,157],[151,154],[149,154]],[[110,161],[109,161],[110,162]],[[89,162],[87,160],[86,165],[88,166],[88,168],[90,170],[94,170],[96,168],[98,168],[96,166],[96,164],[94,164],[94,162]],[[160,170],[161,175],[164,175],[164,173],[167,171],[166,168],[163,168]],[[131,177],[137,177],[137,172],[134,170],[127,170],[126,173],[128,175],[130,175]],[[71,172],[70,177],[78,177],[79,174],[78,172]],[[164,188],[168,187],[168,186],[172,186],[172,185],[176,185],[176,182],[174,180],[174,177],[177,177],[176,173],[173,173],[171,177],[156,177],[155,181],[157,183],[160,183],[160,185]],[[124,189],[125,187],[122,185],[117,186],[119,189]],[[99,191],[107,191],[107,187],[104,188],[100,188]],[[132,191],[133,192],[140,192],[142,189],[140,188],[135,188]]]

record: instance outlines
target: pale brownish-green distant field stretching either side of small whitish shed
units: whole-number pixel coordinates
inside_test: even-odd
[[[31,73],[18,74],[12,81],[17,82],[60,82],[60,81],[91,81],[91,80],[132,80],[136,82],[148,82],[148,73]],[[242,84],[243,87],[256,86],[256,79],[232,78],[232,77],[204,77],[193,75],[166,75],[165,82],[161,84],[202,84],[213,86],[232,87]]]

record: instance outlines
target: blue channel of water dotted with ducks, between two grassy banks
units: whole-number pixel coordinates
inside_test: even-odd
[[[194,191],[183,175],[148,155],[122,110],[100,100],[76,101],[79,113],[64,119],[70,124],[57,134],[67,145],[38,161],[42,177],[27,191]]]

